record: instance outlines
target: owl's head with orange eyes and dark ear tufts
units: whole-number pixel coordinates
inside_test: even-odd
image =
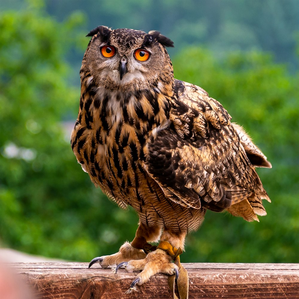
[[[82,69],[88,69],[96,86],[130,92],[173,85],[173,68],[165,47],[173,42],[158,31],[109,29],[89,32]]]

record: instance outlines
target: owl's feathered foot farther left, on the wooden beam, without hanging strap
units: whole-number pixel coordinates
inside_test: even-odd
[[[99,262],[102,268],[114,268],[123,261],[141,260],[145,256],[146,254],[143,250],[134,248],[129,242],[126,242],[119,248],[117,253],[92,259],[88,268],[97,262]]]

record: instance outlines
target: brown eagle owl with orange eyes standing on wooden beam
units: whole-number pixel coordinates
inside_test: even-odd
[[[71,146],[91,181],[139,216],[133,241],[90,266],[142,270],[131,289],[158,272],[178,279],[184,239],[207,209],[247,221],[266,215],[254,167],[271,164],[219,102],[174,79],[170,39],[105,26],[87,36]]]

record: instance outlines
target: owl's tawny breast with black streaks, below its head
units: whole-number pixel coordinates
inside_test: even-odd
[[[157,90],[121,94],[87,88],[81,102],[72,134],[77,160],[110,198],[142,202],[138,190],[148,184],[142,163],[147,144],[169,125],[168,99]]]

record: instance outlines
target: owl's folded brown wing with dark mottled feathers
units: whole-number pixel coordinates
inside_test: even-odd
[[[181,93],[171,110],[172,124],[147,144],[149,176],[185,207],[221,211],[256,195],[267,198],[225,109],[199,87],[176,84]]]

